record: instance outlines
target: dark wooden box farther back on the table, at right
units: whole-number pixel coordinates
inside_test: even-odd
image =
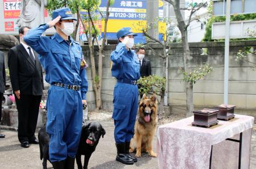
[[[230,120],[234,118],[234,108],[236,105],[221,104],[215,109],[218,109],[219,120]]]

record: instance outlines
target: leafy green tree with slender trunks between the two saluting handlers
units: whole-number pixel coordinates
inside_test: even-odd
[[[100,11],[100,0],[48,0],[47,9],[50,14],[53,10],[59,9],[60,7],[67,6],[69,7],[73,13],[77,14],[77,24],[75,28],[75,32],[73,37],[75,39],[77,34],[77,29],[79,27],[79,23],[81,20],[82,26],[84,27],[85,35],[88,40],[88,45],[90,49],[90,61],[92,65],[92,76],[93,76],[93,90],[96,95],[96,109],[101,109],[101,86],[102,86],[102,56],[104,53],[104,47],[106,44],[106,29],[108,25],[109,18],[109,6],[114,3],[114,0],[108,0],[106,2],[106,11],[103,13]],[[86,14],[83,17],[80,15],[80,11],[85,10]],[[102,43],[97,39],[97,36],[100,33],[95,26],[95,22],[97,22],[100,18],[104,20],[104,36],[102,39]],[[101,20],[101,19],[100,19]],[[96,72],[96,64],[95,64],[95,53],[94,53],[94,44],[98,47],[98,71]]]

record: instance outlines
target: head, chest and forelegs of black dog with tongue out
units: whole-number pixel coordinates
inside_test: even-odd
[[[90,156],[95,151],[100,137],[106,134],[105,129],[100,122],[90,122],[82,126],[82,133],[79,143],[79,148],[76,154],[76,163],[79,169],[82,169],[81,155],[84,155],[84,169],[87,169]]]

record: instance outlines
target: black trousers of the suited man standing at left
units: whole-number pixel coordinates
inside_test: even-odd
[[[19,142],[35,140],[36,123],[38,122],[39,105],[42,95],[20,95],[15,101],[18,109]]]

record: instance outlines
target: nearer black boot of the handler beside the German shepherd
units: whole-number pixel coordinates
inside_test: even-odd
[[[115,146],[117,147],[117,158],[115,159],[123,164],[133,164],[133,159],[125,153],[125,143],[116,143]]]

